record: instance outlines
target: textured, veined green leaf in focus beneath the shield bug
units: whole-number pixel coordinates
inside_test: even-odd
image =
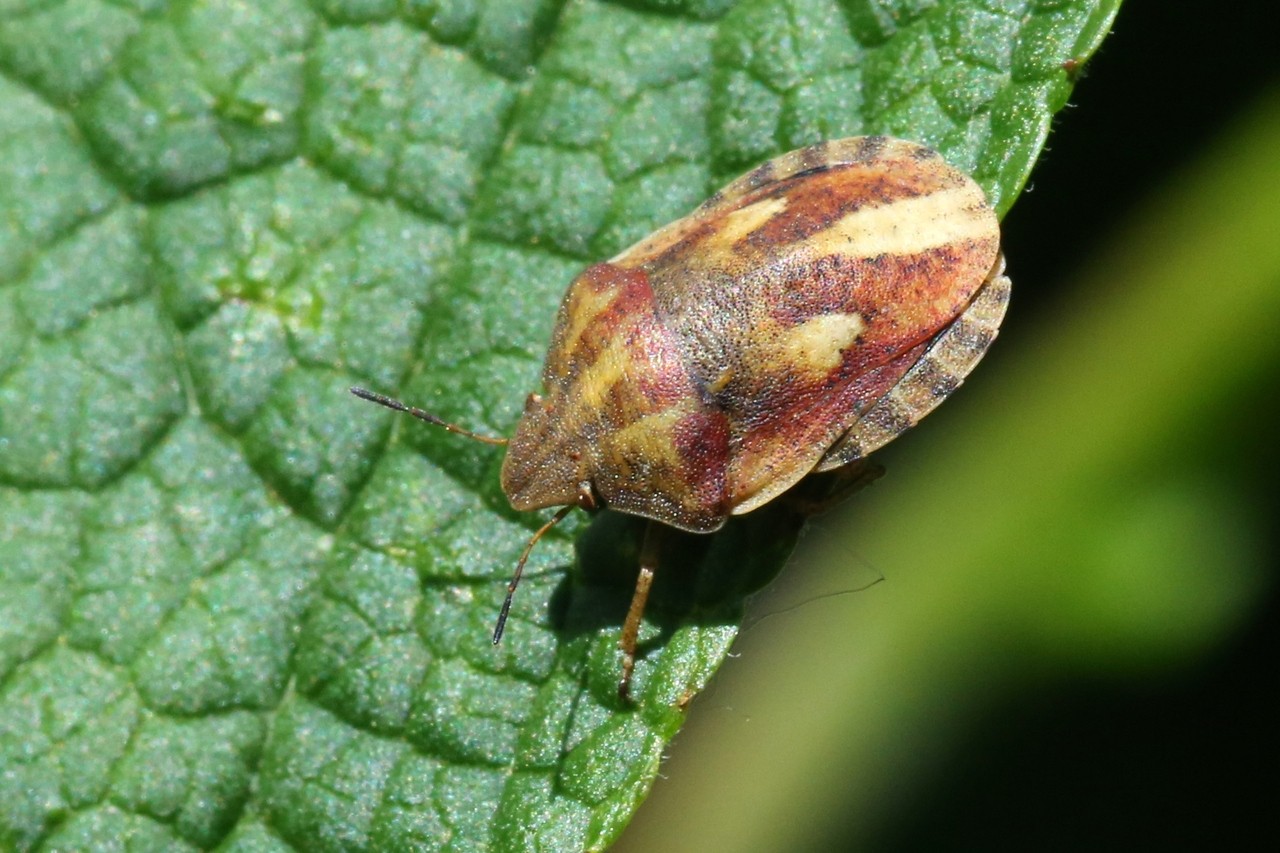
[[[616,838],[800,520],[539,544],[500,453],[559,296],[884,132],[1016,197],[1117,0],[0,1],[0,845]]]

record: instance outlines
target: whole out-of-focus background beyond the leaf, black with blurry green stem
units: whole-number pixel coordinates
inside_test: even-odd
[[[1280,69],[1217,12],[1121,9],[1000,342],[754,602],[617,849],[1280,840]]]

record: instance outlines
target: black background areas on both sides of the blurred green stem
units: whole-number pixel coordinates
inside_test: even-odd
[[[1005,223],[1005,243],[1019,246],[1024,323],[1002,337],[1055,310],[1079,259],[1280,83],[1275,14],[1248,1],[1121,6],[1075,90],[1076,105],[1059,115],[1059,132]],[[1057,190],[1039,193],[1036,184]],[[1280,240],[1280,223],[1276,232]],[[1262,392],[1229,419],[1234,428],[1221,446],[1204,453],[1276,517],[1280,394]],[[916,800],[878,827],[872,848],[1001,849],[1019,839],[1034,844],[1021,849],[1037,850],[1280,849],[1274,529],[1268,551],[1271,592],[1225,647],[1189,670],[1055,680],[1019,693],[963,739]]]

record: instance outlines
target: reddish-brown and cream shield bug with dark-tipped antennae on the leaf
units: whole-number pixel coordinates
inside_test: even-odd
[[[783,154],[584,270],[561,304],[507,443],[517,510],[650,520],[622,626],[626,695],[657,530],[710,533],[812,473],[861,460],[955,391],[1009,301],[982,190],[914,142],[870,136]]]

